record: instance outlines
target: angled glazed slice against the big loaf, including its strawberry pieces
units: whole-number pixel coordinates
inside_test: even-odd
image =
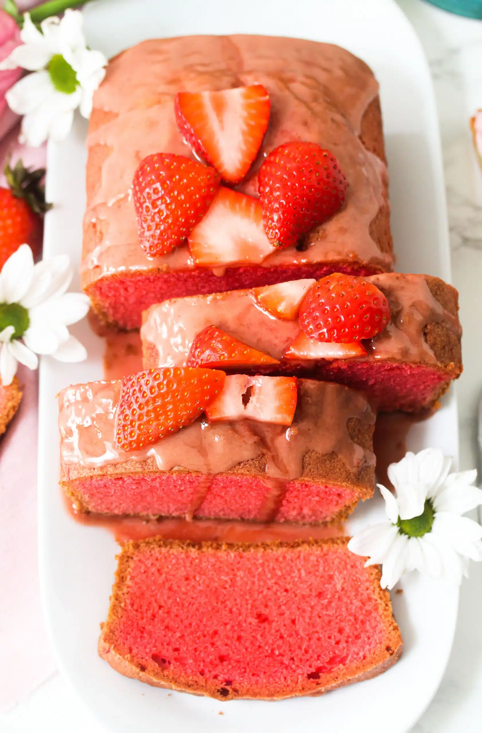
[[[144,366],[315,377],[422,413],[461,373],[458,308],[450,285],[402,273],[176,298],[143,314]]]

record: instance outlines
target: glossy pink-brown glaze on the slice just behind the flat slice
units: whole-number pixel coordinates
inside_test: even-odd
[[[115,446],[114,432],[121,381],[67,387],[58,397],[60,455],[68,478],[79,467],[103,468],[131,461],[155,461],[159,471],[186,468],[214,475],[267,454],[266,477],[293,479],[302,474],[310,451],[335,453],[352,474],[373,466],[370,449],[348,434],[352,418],[373,426],[375,415],[365,397],[346,387],[299,380],[298,407],[290,427],[255,422],[208,424],[202,416],[174,435],[136,452]]]

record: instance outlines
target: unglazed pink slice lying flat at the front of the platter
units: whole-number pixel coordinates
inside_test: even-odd
[[[99,654],[126,677],[219,700],[376,677],[401,635],[379,568],[346,542],[128,542]]]

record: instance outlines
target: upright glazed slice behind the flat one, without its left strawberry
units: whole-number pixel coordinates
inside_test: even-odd
[[[204,415],[134,451],[116,441],[122,394],[121,380],[59,394],[61,483],[78,512],[323,523],[373,494],[375,415],[344,386],[226,377]]]

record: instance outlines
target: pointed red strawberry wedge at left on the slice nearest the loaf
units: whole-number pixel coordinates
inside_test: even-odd
[[[192,342],[187,361],[188,367],[223,369],[260,367],[263,364],[280,364],[277,359],[252,349],[233,336],[208,325]]]

